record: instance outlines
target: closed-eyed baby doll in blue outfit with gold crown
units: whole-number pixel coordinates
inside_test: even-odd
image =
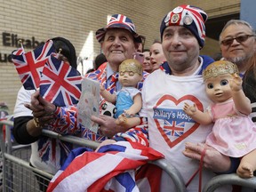
[[[137,114],[142,107],[141,92],[136,88],[142,79],[142,66],[138,60],[124,60],[119,66],[118,81],[122,84],[119,92],[111,94],[100,86],[101,96],[113,104],[116,103],[116,124],[131,128],[140,124]]]

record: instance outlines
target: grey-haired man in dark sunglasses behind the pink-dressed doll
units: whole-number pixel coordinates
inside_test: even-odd
[[[252,26],[244,20],[229,20],[220,33],[220,50],[223,59],[236,63],[243,76],[243,90],[251,100],[252,121],[256,124],[256,36]]]

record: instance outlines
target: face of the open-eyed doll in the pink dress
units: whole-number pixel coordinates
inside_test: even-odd
[[[205,80],[205,89],[208,97],[215,103],[226,101],[232,97],[229,81],[231,75],[225,74]]]

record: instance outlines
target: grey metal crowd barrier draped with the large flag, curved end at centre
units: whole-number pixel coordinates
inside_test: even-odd
[[[4,140],[4,134],[3,134],[3,125],[6,125],[6,138]],[[53,175],[49,174],[47,172],[44,172],[42,170],[39,170],[37,168],[31,167],[29,165],[29,156],[26,156],[26,159],[23,160],[20,156],[15,156],[13,153],[15,151],[19,151],[20,149],[23,150],[22,154],[24,155],[24,150],[27,150],[30,148],[30,145],[18,145],[18,146],[12,146],[12,140],[11,140],[11,131],[10,127],[13,126],[13,122],[9,120],[0,121],[0,141],[1,141],[1,150],[3,152],[3,191],[41,191],[39,188],[36,188],[38,184],[36,183],[35,179],[35,173],[37,174],[37,177],[44,177],[47,180],[52,180]],[[61,135],[56,132],[43,130],[42,134],[47,137],[51,137],[58,140],[63,140],[67,142],[71,142],[77,146],[87,147],[87,148],[97,148],[100,143],[92,141],[92,140],[84,140],[82,138],[77,138],[75,136],[71,135]],[[164,172],[167,172],[167,174],[172,178],[173,183],[175,184],[175,187],[177,188],[177,191],[183,192],[186,191],[185,183],[181,179],[180,172],[172,166],[169,162],[167,162],[165,159],[159,159],[156,161],[149,162],[150,164],[156,164],[161,169],[164,170]],[[15,167],[22,168],[20,171],[16,171]],[[22,173],[26,172],[26,173]],[[23,174],[23,175],[22,175]],[[21,178],[19,178],[21,177]],[[28,183],[24,186],[24,178],[26,177],[26,180]],[[34,177],[34,179],[32,178]],[[19,181],[17,182],[17,180]],[[31,180],[34,180],[31,182]],[[18,184],[17,184],[18,183]],[[22,184],[19,184],[22,183]],[[20,185],[20,186],[19,186]],[[22,187],[21,187],[22,185]],[[29,189],[28,189],[29,188]]]

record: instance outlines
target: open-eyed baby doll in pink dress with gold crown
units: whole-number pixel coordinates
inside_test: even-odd
[[[242,90],[242,79],[235,64],[213,62],[203,73],[206,94],[213,104],[202,112],[185,103],[184,111],[199,124],[211,124],[206,144],[225,156],[241,158],[236,173],[250,178],[256,169],[256,126],[249,117],[250,100]]]

